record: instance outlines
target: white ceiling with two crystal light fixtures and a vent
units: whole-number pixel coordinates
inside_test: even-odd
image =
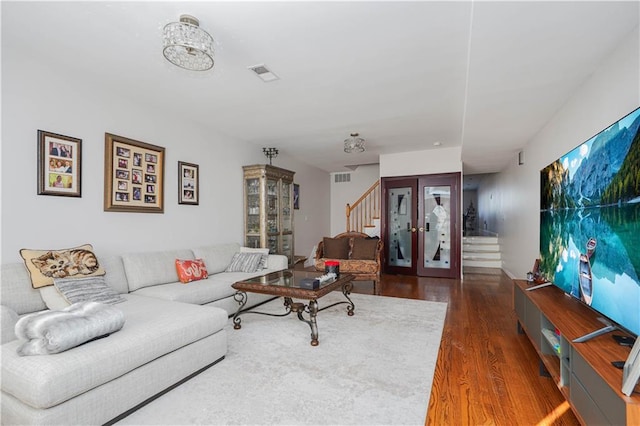
[[[490,173],[638,26],[639,5],[3,1],[2,45],[327,171],[441,142],[462,147],[465,173]],[[213,71],[162,56],[162,28],[185,13],[216,40]],[[280,80],[247,70],[261,63]],[[365,153],[343,152],[351,132]]]

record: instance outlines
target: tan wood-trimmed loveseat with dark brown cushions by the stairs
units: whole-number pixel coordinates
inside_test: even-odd
[[[340,273],[353,274],[355,281],[373,281],[378,291],[382,265],[382,240],[361,232],[343,232],[318,243],[315,268],[324,272],[325,260],[340,261]]]

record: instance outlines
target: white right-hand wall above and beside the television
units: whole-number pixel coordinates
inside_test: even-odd
[[[640,106],[640,34],[635,30],[525,147],[525,164],[498,177],[503,268],[523,278],[539,251],[539,172]]]

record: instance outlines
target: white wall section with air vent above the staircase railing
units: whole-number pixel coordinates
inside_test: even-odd
[[[380,179],[380,167],[377,164],[359,166],[349,173],[349,182],[336,183],[331,174],[331,235],[337,235],[347,230],[347,203],[353,204],[371,185]],[[320,240],[318,240],[320,241]]]

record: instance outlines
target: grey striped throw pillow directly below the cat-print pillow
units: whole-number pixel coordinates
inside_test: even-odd
[[[107,285],[104,276],[56,278],[53,285],[69,303],[98,302],[113,305],[125,300]]]

